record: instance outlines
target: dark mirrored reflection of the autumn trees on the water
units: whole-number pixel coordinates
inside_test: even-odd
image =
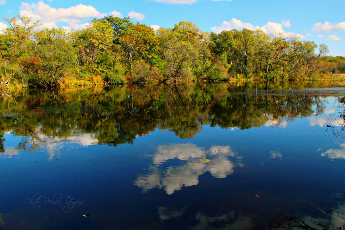
[[[324,92],[276,93],[273,89],[335,85],[296,84],[186,83],[30,90],[0,98],[1,132],[27,137],[44,134],[52,138],[90,133],[98,144],[116,146],[133,143],[137,136],[156,127],[181,139],[194,137],[208,124],[242,130],[262,125],[286,127],[296,117],[323,113],[327,100],[322,96]],[[327,122],[316,116],[310,117],[310,121],[321,126]]]

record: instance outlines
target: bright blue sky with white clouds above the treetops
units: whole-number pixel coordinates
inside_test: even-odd
[[[283,32],[303,40],[324,43],[332,56],[345,56],[345,1],[252,0],[116,0],[76,1],[0,0],[0,16],[22,15],[39,19],[43,26],[83,28],[94,17],[131,16],[153,28],[174,27],[192,21],[203,31],[262,29]],[[0,28],[6,21],[0,18]]]

